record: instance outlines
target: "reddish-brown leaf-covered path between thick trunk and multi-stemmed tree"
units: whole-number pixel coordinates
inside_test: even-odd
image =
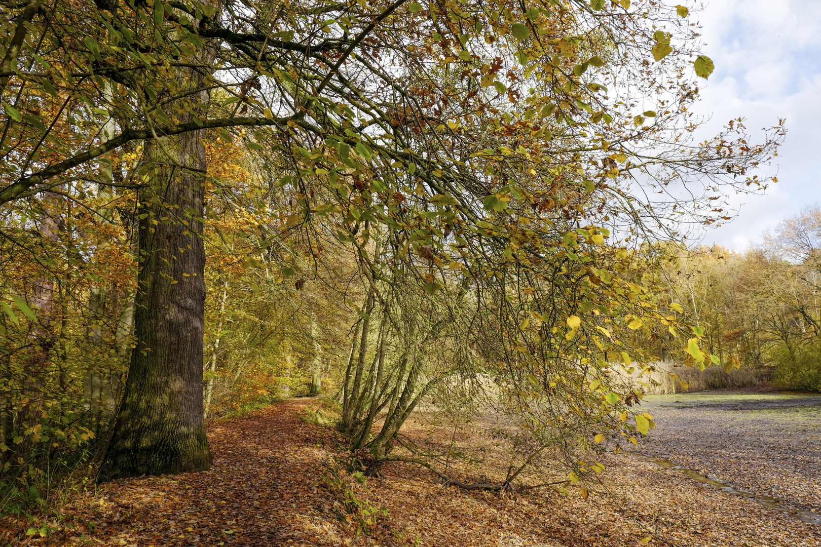
[[[209,427],[209,472],[138,477],[79,500],[52,545],[344,545],[318,487],[330,431],[300,420],[293,399]],[[331,515],[333,517],[333,515]]]

